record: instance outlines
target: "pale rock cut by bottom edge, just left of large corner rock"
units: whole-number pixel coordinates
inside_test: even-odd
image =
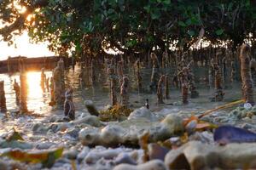
[[[163,161],[153,160],[140,165],[120,164],[113,168],[113,170],[166,170],[166,166]]]

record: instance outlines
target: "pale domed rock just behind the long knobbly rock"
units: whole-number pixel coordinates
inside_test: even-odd
[[[128,116],[128,120],[131,119],[138,119],[138,118],[145,118],[150,121],[157,121],[156,116],[154,116],[154,113],[149,111],[146,107],[141,107],[135,111],[132,111],[130,116]]]

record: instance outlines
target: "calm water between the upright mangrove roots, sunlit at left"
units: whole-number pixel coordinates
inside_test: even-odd
[[[132,72],[132,71],[131,71]],[[84,99],[91,99],[95,102],[96,106],[99,109],[102,109],[105,105],[110,104],[108,89],[98,86],[96,88],[81,88],[79,83],[79,73],[80,66],[77,65],[75,70],[66,71],[66,86],[74,88],[74,104],[77,111],[84,111]],[[48,105],[49,103],[49,93],[43,93],[42,88],[40,87],[40,71],[27,72],[27,107],[29,111],[34,111],[39,114],[49,114],[52,111],[52,107]],[[45,72],[46,77],[51,77],[52,73],[50,71]],[[147,87],[148,82],[150,81],[151,71],[143,71],[143,85]],[[135,78],[132,77],[132,73],[129,75],[131,80],[131,87],[136,86]],[[9,111],[17,110],[17,105],[15,103],[15,91],[13,89],[13,83],[20,83],[19,74],[12,76],[6,74],[0,74],[0,80],[4,80],[4,88],[6,94],[7,108]],[[148,80],[145,80],[148,79]],[[107,82],[107,81],[106,81]],[[131,105],[134,108],[143,106],[145,99],[149,99],[149,104],[151,109],[155,111],[160,111],[163,108],[166,108],[171,111],[206,111],[207,109],[212,109],[215,106],[223,105],[224,103],[240,99],[241,98],[241,89],[240,85],[237,82],[233,85],[233,88],[225,89],[225,96],[223,102],[209,102],[209,98],[212,97],[214,93],[213,89],[208,89],[204,87],[204,84],[198,84],[200,87],[198,90],[200,92],[200,98],[198,99],[189,99],[189,105],[180,105],[180,91],[172,88],[170,90],[170,97],[166,101],[166,105],[156,105],[156,94],[138,94],[136,88],[131,88]],[[170,105],[175,104],[175,105]]]

